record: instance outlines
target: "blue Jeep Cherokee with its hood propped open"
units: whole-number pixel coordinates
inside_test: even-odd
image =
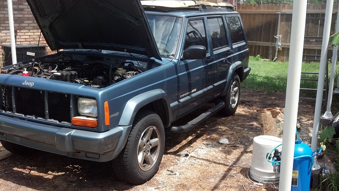
[[[250,72],[233,7],[192,0],[27,0],[56,54],[1,69],[0,139],[112,162],[125,182],[159,169],[165,130],[232,115]],[[168,5],[166,5],[166,3]],[[171,125],[205,103],[208,111]]]

